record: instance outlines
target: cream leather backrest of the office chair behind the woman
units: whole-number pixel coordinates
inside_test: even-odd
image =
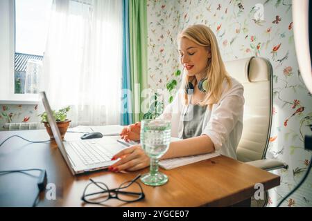
[[[236,150],[242,162],[266,157],[272,124],[272,66],[261,57],[225,62],[230,76],[244,86],[243,133]]]

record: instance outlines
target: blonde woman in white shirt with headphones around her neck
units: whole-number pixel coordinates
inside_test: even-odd
[[[236,159],[243,129],[243,86],[229,77],[220,56],[216,37],[204,25],[189,26],[178,36],[184,80],[171,104],[159,117],[171,119],[173,137],[161,159],[218,151]],[[126,140],[139,140],[140,122],[121,131]],[[141,145],[125,148],[112,160],[121,158],[109,170],[135,171],[150,164]]]

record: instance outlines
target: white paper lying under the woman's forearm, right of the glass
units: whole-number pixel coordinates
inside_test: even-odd
[[[177,157],[177,158],[172,158],[172,159],[167,159],[167,160],[160,160],[159,166],[161,166],[163,169],[171,170],[179,166],[193,164],[195,162],[207,160],[212,157],[217,157],[219,155],[220,155],[219,153],[215,152],[215,153],[207,153],[207,154],[195,155],[195,156],[190,156],[190,157]]]

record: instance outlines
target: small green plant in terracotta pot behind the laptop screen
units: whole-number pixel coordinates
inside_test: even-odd
[[[70,110],[70,107],[67,106],[65,108],[62,108],[58,111],[52,111],[53,117],[56,121],[56,124],[58,125],[58,129],[60,131],[60,135],[62,139],[64,139],[64,135],[67,131],[67,128],[69,127],[69,123],[71,120],[67,119],[67,112]],[[41,117],[41,122],[44,123],[44,126],[46,127],[46,131],[49,133],[50,139],[53,140],[53,133],[48,121],[48,115],[46,115],[46,112],[42,113],[41,115],[38,115]]]

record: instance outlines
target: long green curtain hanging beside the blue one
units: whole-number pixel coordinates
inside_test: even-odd
[[[129,0],[130,79],[132,122],[143,118],[141,91],[147,88],[147,6],[146,0]]]

